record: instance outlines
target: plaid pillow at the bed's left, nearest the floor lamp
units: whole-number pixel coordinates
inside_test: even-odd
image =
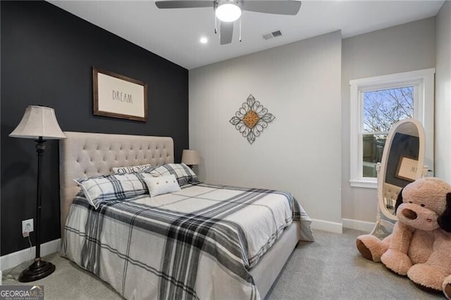
[[[89,204],[99,208],[99,204],[108,200],[125,199],[148,192],[145,178],[152,177],[146,173],[127,173],[82,177],[74,179],[78,183]]]

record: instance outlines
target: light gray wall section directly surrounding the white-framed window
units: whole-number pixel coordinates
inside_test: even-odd
[[[350,80],[426,68],[435,68],[435,18],[343,39],[341,131],[343,218],[374,222],[377,204],[376,189],[350,187]],[[447,122],[449,125],[449,118]],[[448,151],[448,157],[449,153]]]

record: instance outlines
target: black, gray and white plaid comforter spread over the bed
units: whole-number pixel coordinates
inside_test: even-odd
[[[259,299],[248,270],[295,219],[313,240],[289,193],[198,184],[97,210],[79,193],[61,252],[127,299]]]

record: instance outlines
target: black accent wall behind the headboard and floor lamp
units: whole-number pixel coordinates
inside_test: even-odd
[[[8,137],[28,105],[53,107],[62,130],[173,137],[177,162],[188,147],[188,72],[47,2],[0,5],[3,256],[27,248],[22,220],[35,218],[35,142]],[[146,123],[92,114],[92,66],[147,82]],[[42,243],[60,237],[58,142],[46,144]]]

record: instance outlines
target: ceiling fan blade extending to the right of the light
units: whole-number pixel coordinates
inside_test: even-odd
[[[301,1],[270,1],[270,0],[243,0],[243,11],[255,11],[257,13],[276,13],[278,15],[296,15],[301,8]]]

